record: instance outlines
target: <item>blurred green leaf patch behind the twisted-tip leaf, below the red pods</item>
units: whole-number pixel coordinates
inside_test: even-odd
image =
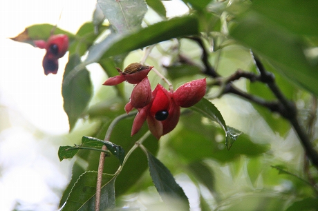
[[[227,150],[219,139],[223,129],[212,124],[203,124],[202,118],[196,113],[181,116],[179,123],[182,123],[183,127],[171,137],[167,145],[187,163],[203,159],[226,163],[241,155],[257,157],[270,149],[269,144],[253,143],[250,137],[242,134],[231,150]]]

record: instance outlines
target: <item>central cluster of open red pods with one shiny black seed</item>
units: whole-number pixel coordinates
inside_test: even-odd
[[[131,136],[136,134],[147,120],[148,128],[154,137],[160,137],[176,128],[180,117],[180,107],[188,108],[198,103],[206,91],[206,80],[198,79],[183,84],[178,89],[166,90],[158,84],[151,91],[147,74],[153,66],[142,66],[140,63],[131,63],[127,68],[120,70],[120,75],[111,77],[104,85],[113,86],[123,81],[136,84],[131,92],[129,103],[125,110],[129,113],[133,108],[138,110],[133,121]]]

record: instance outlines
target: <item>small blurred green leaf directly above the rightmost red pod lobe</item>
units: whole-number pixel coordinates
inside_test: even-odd
[[[195,74],[202,73],[198,66],[190,66],[186,64],[168,66],[165,68],[167,69],[169,78],[171,78],[172,80],[179,79],[180,77],[193,76]]]

